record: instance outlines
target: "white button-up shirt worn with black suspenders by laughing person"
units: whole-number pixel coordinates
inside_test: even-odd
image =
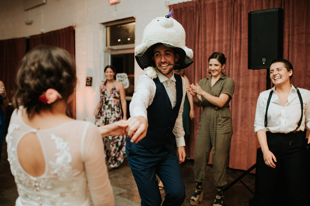
[[[265,112],[269,93],[273,90],[272,97],[270,99],[270,104],[268,107],[267,127],[272,133],[281,132],[289,133],[293,132],[301,117],[301,106],[300,100],[297,94],[297,90],[293,85],[291,85],[291,90],[287,95],[287,103],[283,106],[277,92],[276,87],[270,90],[263,91],[259,94],[256,105],[254,131],[259,130],[268,131],[265,128]],[[298,88],[303,99],[303,120],[297,131],[304,131],[305,122],[308,130],[310,129],[310,91],[306,89]]]

